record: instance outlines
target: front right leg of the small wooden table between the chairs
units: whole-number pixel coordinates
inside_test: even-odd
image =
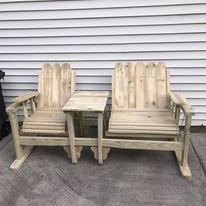
[[[102,138],[103,138],[103,114],[98,113],[98,159],[99,159],[99,164],[103,164]]]

